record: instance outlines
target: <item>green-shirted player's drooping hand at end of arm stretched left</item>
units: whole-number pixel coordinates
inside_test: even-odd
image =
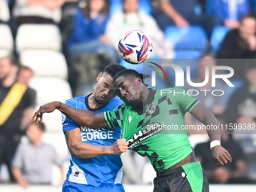
[[[35,120],[35,122],[42,122],[43,121],[43,114],[44,113],[51,113],[56,108],[59,108],[59,102],[49,102],[45,105],[41,105],[41,107],[38,109],[38,111],[35,112],[34,116],[32,117],[32,120]]]

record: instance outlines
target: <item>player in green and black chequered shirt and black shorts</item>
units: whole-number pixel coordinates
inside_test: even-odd
[[[35,112],[34,120],[42,114],[58,109],[76,123],[97,127],[121,127],[123,139],[129,148],[151,160],[157,172],[154,178],[154,192],[205,192],[209,183],[199,162],[184,126],[184,114],[189,112],[205,125],[218,127],[218,120],[197,99],[188,96],[180,88],[151,90],[143,84],[142,75],[132,69],[125,69],[114,77],[114,90],[125,102],[114,111],[93,114],[71,108],[61,102],[42,105]],[[178,130],[164,129],[174,125]],[[220,166],[231,162],[229,152],[221,147],[218,129],[209,129],[212,156]]]

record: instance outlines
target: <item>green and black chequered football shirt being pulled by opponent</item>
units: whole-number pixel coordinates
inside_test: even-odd
[[[175,125],[180,128],[185,124],[184,114],[199,103],[181,88],[169,88],[167,92],[150,90],[143,114],[126,104],[104,113],[108,126],[121,127],[129,148],[148,156],[158,172],[175,165],[192,152],[186,130],[164,127]]]

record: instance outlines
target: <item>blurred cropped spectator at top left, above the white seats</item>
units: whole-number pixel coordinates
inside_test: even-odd
[[[17,26],[23,23],[59,23],[65,0],[16,0],[14,17]]]

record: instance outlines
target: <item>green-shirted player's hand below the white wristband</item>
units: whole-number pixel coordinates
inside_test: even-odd
[[[226,149],[222,148],[221,145],[217,145],[212,148],[212,157],[218,166],[224,166],[227,163],[232,162],[230,153]]]

